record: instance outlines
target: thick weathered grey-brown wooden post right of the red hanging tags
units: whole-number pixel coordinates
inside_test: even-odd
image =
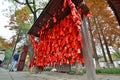
[[[82,37],[83,37],[83,57],[85,59],[86,74],[88,80],[96,80],[95,67],[92,58],[92,48],[90,47],[90,39],[88,36],[88,25],[85,16],[83,17]]]

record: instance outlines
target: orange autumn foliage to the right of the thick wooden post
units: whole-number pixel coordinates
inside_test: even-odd
[[[85,2],[92,12],[90,25],[94,40],[97,42],[98,34],[101,34],[102,31],[104,36],[108,38],[107,41],[110,46],[119,45],[116,40],[119,38],[118,22],[107,2],[105,0],[85,0]]]

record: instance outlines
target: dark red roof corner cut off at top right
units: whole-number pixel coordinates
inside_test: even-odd
[[[120,0],[107,0],[107,2],[109,6],[112,8],[113,12],[115,13],[115,16],[120,25]]]

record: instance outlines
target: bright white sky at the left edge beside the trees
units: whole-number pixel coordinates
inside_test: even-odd
[[[15,32],[10,31],[8,28],[4,27],[5,25],[8,25],[8,21],[9,21],[9,18],[5,17],[2,12],[3,10],[8,9],[8,6],[6,5],[9,4],[6,2],[3,3],[3,0],[0,0],[0,36],[9,40],[10,37],[12,37],[12,35],[15,34]]]

